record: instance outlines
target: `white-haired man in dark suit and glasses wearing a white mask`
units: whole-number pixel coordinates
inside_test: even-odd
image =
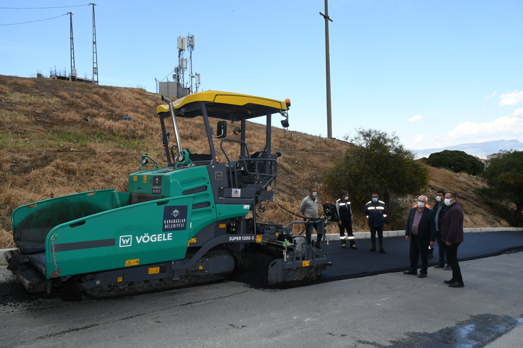
[[[422,269],[418,278],[427,277],[428,246],[434,246],[436,234],[436,219],[434,210],[425,207],[426,196],[418,197],[418,204],[408,213],[405,239],[411,242],[411,268],[403,271],[405,274],[418,274],[418,259],[422,259]]]

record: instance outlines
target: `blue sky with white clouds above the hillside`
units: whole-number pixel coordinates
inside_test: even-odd
[[[96,3],[101,84],[155,91],[154,78],[176,65],[177,36],[190,32],[201,88],[290,98],[290,129],[326,135],[323,1]],[[0,24],[67,11],[78,75],[90,76],[90,6],[0,9]],[[377,128],[413,149],[523,141],[520,0],[331,0],[329,15],[334,136]],[[0,74],[49,74],[55,65],[70,66],[69,16],[0,26]]]

